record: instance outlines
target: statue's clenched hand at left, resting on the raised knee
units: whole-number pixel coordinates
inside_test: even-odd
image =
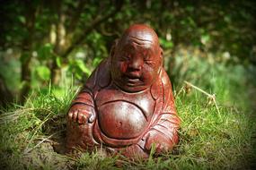
[[[69,109],[67,119],[71,122],[84,124],[93,123],[95,120],[95,112],[91,106],[74,105]]]

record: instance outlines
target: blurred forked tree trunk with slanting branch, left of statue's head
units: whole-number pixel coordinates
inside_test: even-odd
[[[84,8],[84,2],[80,2],[80,4],[78,5],[78,8],[76,10],[76,13],[74,14],[74,18],[71,20],[71,27],[67,28],[67,33],[71,33],[73,34],[75,25],[77,24],[78,20],[76,17],[79,17],[80,13],[83,12],[83,8]],[[61,3],[59,3],[59,1],[56,3],[53,3],[54,9],[57,10],[57,16],[58,16],[58,20],[57,20],[57,38],[56,38],[56,43],[55,43],[55,48],[54,48],[54,53],[55,56],[53,58],[52,64],[51,64],[51,68],[50,68],[50,72],[51,72],[51,81],[53,84],[58,84],[58,81],[60,79],[60,68],[58,68],[57,66],[57,56],[60,57],[62,60],[66,60],[67,55],[70,55],[71,52],[75,49],[75,47],[81,45],[84,42],[84,39],[86,38],[86,36],[88,36],[88,34],[93,31],[93,29],[97,26],[99,26],[102,22],[104,21],[108,21],[108,19],[110,17],[113,17],[116,13],[118,13],[121,10],[121,7],[123,5],[123,1],[122,0],[117,0],[115,1],[115,9],[109,12],[109,9],[106,9],[107,13],[102,15],[99,14],[98,17],[96,17],[93,21],[92,24],[84,29],[84,32],[81,36],[79,36],[76,39],[72,39],[72,44],[70,44],[68,47],[66,47],[66,28],[64,26],[64,15],[62,12],[62,6]],[[72,38],[74,38],[72,36]]]

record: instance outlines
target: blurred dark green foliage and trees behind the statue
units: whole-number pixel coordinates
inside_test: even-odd
[[[193,77],[191,53],[199,60],[212,54],[216,64],[255,65],[255,6],[236,0],[1,1],[1,79],[18,100],[49,81],[60,86],[74,76],[84,82],[133,23],[157,32],[174,86]]]

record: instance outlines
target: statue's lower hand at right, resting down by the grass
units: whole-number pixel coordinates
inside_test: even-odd
[[[153,145],[156,154],[167,152],[168,150],[172,149],[172,141],[169,140],[168,137],[163,133],[157,132],[155,130],[147,132],[145,140],[145,149],[147,151],[150,151],[153,148]]]

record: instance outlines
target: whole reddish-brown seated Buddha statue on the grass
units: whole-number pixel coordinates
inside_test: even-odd
[[[103,146],[127,157],[169,151],[180,119],[154,30],[133,25],[111,49],[67,115],[66,148]]]

